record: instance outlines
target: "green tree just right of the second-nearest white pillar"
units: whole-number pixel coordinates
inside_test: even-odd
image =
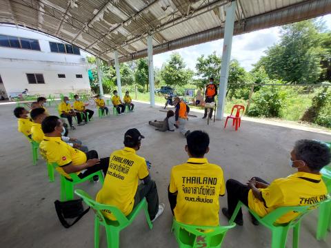
[[[185,68],[183,58],[179,53],[173,52],[170,61],[165,63],[161,71],[161,78],[167,85],[183,86],[192,81],[193,72]]]

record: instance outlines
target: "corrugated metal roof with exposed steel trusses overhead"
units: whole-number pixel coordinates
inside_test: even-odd
[[[1,0],[0,22],[23,25],[112,63],[223,37],[231,0]],[[331,12],[331,0],[237,0],[234,34]]]

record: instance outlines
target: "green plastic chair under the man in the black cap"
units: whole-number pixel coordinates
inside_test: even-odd
[[[153,227],[152,222],[150,221],[150,215],[148,214],[146,198],[143,198],[128,216],[125,216],[117,207],[97,203],[91,198],[91,196],[81,189],[76,189],[74,193],[83,198],[83,201],[94,210],[94,248],[99,247],[100,225],[103,225],[106,229],[108,248],[118,248],[119,232],[131,225],[132,221],[142,209],[145,212],[148,227],[150,227],[150,229]],[[111,211],[117,220],[109,220],[103,216],[101,212],[102,210]]]

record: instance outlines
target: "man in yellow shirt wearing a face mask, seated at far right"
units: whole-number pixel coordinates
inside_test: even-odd
[[[319,171],[330,163],[330,149],[318,141],[297,141],[290,153],[290,167],[298,172],[274,180],[270,185],[261,178],[254,177],[243,185],[237,180],[229,179],[226,182],[228,192],[228,209],[222,212],[231,218],[238,201],[263,217],[277,207],[314,205],[326,199],[328,191]],[[290,211],[281,216],[276,222],[288,223],[298,214]],[[235,218],[235,223],[243,225],[241,210]],[[252,223],[259,225],[252,217]]]

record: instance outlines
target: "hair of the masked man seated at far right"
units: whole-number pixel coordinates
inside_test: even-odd
[[[312,172],[319,172],[331,160],[330,148],[319,141],[299,140],[295,143],[293,152],[297,160],[304,161]]]

